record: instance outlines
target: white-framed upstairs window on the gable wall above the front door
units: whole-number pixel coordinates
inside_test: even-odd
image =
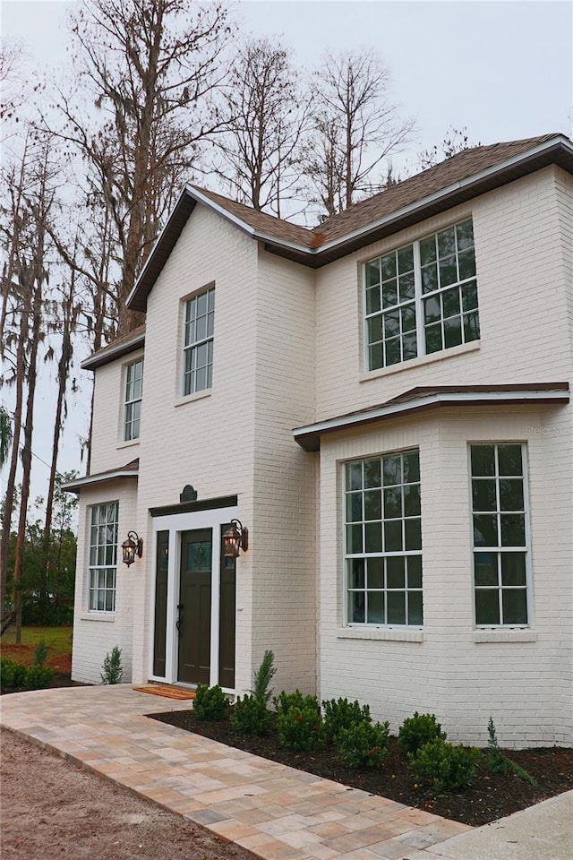
[[[211,388],[215,288],[187,299],[184,307],[183,393]]]

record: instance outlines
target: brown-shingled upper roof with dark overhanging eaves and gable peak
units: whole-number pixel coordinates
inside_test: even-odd
[[[501,149],[500,152],[508,153],[508,157],[500,159],[498,153],[498,160],[489,166],[487,166],[487,159],[482,158],[482,161],[486,162],[486,166],[482,169],[475,167],[478,160],[474,160],[471,162],[473,167],[466,170],[466,173],[464,173],[466,168],[462,168],[463,176],[448,181],[447,176],[452,173],[448,168],[455,163],[456,158],[459,158],[454,156],[453,159],[449,159],[449,163],[442,162],[436,168],[412,176],[405,182],[392,186],[387,192],[375,195],[375,204],[371,204],[374,198],[356,203],[355,206],[334,216],[325,225],[314,230],[256,212],[241,203],[229,201],[205,189],[185,185],[143,266],[140,277],[126,299],[126,305],[134,311],[145,312],[150,291],[198,203],[217,212],[252,239],[261,242],[267,251],[302,263],[309,268],[318,269],[346,254],[352,254],[365,245],[371,245],[423,219],[451,209],[480,194],[500,188],[501,185],[507,185],[548,165],[555,164],[573,173],[573,143],[565,135],[548,134],[541,138],[517,143],[478,148],[478,150],[495,150],[496,146],[505,146],[506,148]],[[472,150],[466,150],[466,152],[471,153]],[[460,153],[461,156],[464,154]],[[428,187],[431,185],[428,178],[432,170],[440,171],[440,169],[439,176],[443,175],[445,181],[441,185],[439,182],[438,188],[428,192]],[[402,202],[394,206],[392,202],[398,199]],[[389,205],[381,206],[381,202],[388,202]],[[387,208],[389,211],[377,215],[376,207]]]

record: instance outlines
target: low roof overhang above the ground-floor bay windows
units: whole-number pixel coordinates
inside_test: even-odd
[[[531,383],[514,385],[443,385],[414,388],[369,409],[360,409],[296,427],[295,442],[304,451],[319,451],[325,434],[367,426],[373,422],[406,417],[428,409],[472,406],[531,406],[569,403],[569,383]]]

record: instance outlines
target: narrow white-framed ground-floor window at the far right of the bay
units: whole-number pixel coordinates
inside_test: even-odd
[[[526,445],[469,446],[475,624],[529,624]]]

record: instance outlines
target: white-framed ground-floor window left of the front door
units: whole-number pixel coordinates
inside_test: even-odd
[[[97,612],[115,611],[118,517],[118,502],[96,504],[91,508],[88,606]]]

